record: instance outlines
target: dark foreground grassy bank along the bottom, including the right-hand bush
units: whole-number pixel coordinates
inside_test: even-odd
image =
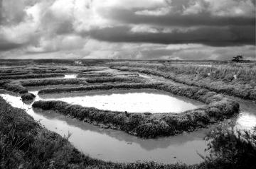
[[[210,155],[197,165],[111,163],[84,156],[68,141],[41,127],[25,110],[0,97],[0,168],[254,169],[256,134],[216,129],[208,134]],[[114,148],[114,147],[113,147]]]

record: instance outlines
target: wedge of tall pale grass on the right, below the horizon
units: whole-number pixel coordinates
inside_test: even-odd
[[[217,93],[256,100],[256,68],[252,64],[200,66],[190,63],[112,62],[109,65],[112,69],[162,76],[178,83],[206,88]]]

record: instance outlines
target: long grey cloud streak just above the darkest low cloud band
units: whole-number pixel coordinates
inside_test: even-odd
[[[226,26],[226,25],[255,25],[255,16],[212,16],[208,12],[182,15],[181,13],[169,13],[161,16],[137,15],[136,10],[124,10],[111,8],[102,11],[102,16],[112,18],[122,23],[149,24],[165,26]]]

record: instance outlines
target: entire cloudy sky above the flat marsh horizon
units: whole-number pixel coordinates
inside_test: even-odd
[[[255,0],[0,0],[0,58],[255,59]]]

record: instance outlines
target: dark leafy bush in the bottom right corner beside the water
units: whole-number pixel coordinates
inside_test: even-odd
[[[210,155],[204,158],[206,168],[256,168],[256,130],[222,129],[206,136]]]

